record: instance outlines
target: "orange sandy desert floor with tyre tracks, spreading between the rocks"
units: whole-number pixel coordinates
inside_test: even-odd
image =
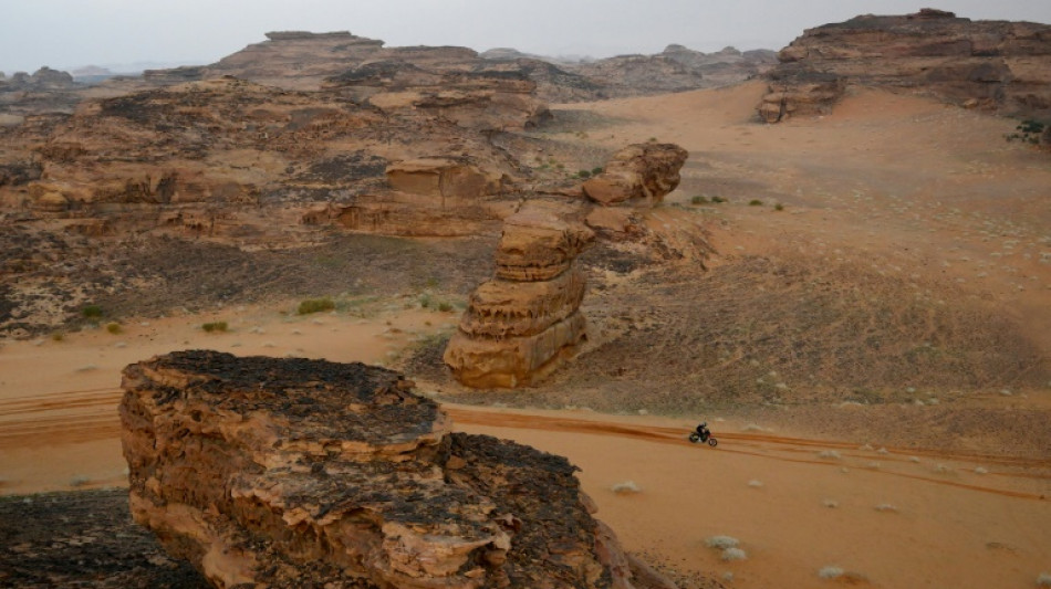
[[[566,106],[615,124],[564,139],[612,148],[656,136],[689,149],[683,187],[668,198],[683,207],[653,215],[665,229],[698,227],[698,212],[685,210],[693,194],[747,202],[761,193],[763,207],[699,212],[718,251],[716,272],[745,252],[805,250],[829,266],[871,260],[881,272],[936,276],[961,297],[1002,305],[1051,350],[1051,164],[1003,141],[1010,122],[865,91],[833,115],[766,127],[750,120],[759,90]],[[785,210],[773,212],[773,202]],[[294,302],[229,307],[127,319],[118,334],[4,341],[0,494],[124,484],[116,406],[127,364],[187,348],[392,364],[458,318],[409,298],[370,305],[306,316],[292,313]],[[217,319],[230,330],[200,329]],[[420,390],[428,392],[425,382]],[[959,402],[1047,410],[1051,382]],[[1051,455],[1040,445],[1000,448],[996,431],[933,449],[866,430],[868,409],[854,406],[815,407],[820,419],[769,413],[753,422],[753,413],[732,409],[657,417],[501,404],[493,393],[488,407],[446,408],[462,431],[568,456],[597,517],[684,587],[699,587],[701,577],[740,588],[1032,587],[1051,572]],[[857,413],[850,432],[822,427],[846,413]],[[699,419],[718,448],[686,440]],[[706,545],[714,536],[737,538],[747,558],[722,560]],[[822,579],[826,567],[843,574]]]

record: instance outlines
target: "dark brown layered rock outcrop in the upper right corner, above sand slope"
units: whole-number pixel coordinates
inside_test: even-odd
[[[925,9],[808,30],[778,55],[760,116],[825,112],[847,83],[922,91],[1002,115],[1051,116],[1051,25]]]

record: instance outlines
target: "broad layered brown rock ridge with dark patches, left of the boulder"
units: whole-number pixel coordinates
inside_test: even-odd
[[[487,105],[493,117],[503,113]],[[295,227],[318,204],[331,204],[343,208],[326,217],[337,228],[459,235],[499,227],[482,200],[499,200],[504,180],[518,173],[482,129],[424,108],[377,112],[339,90],[207,80],[34,120],[0,136],[0,201],[51,215],[60,209],[54,198],[34,200],[54,192],[69,204],[62,210],[110,218],[127,232],[294,245],[289,240],[300,233],[274,221],[289,215]],[[179,220],[209,208],[208,217],[223,221]],[[316,224],[316,214],[308,217]]]

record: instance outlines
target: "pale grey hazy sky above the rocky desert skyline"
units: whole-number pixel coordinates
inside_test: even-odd
[[[281,30],[595,57],[668,43],[781,49],[807,28],[924,6],[1051,23],[1051,0],[0,0],[0,72],[207,64]]]

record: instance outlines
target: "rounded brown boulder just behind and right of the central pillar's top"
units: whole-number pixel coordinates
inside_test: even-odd
[[[689,154],[675,144],[633,144],[614,154],[604,170],[582,188],[587,198],[605,207],[653,207],[679,186],[679,170],[687,157]]]

